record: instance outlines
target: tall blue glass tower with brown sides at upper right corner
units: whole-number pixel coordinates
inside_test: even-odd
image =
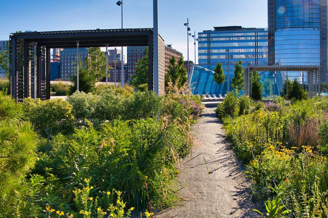
[[[327,19],[327,0],[268,0],[269,64],[321,65],[327,83]],[[307,82],[306,72],[294,78]]]

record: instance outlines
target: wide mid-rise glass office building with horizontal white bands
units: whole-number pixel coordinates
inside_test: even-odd
[[[228,90],[228,62],[230,91],[233,90],[231,79],[234,77],[234,65],[238,60],[242,60],[243,67],[248,64],[268,64],[266,28],[214,27],[214,30],[199,32],[198,40],[198,65],[214,71],[218,62],[222,64],[225,82],[219,86],[216,93],[226,94]]]

